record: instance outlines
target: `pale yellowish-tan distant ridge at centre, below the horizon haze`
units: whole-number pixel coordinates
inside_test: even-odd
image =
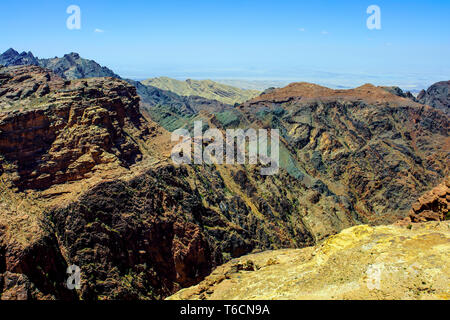
[[[152,78],[142,81],[142,84],[153,86],[180,96],[199,96],[226,104],[242,103],[258,96],[257,90],[244,90],[211,80],[180,81],[167,77]]]

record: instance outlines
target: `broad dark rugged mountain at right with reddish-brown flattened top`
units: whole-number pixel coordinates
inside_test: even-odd
[[[372,85],[332,90],[294,83],[238,109],[245,125],[279,128],[286,146],[281,165],[291,175],[320,181],[322,194],[347,199],[364,222],[407,215],[448,174],[446,115]]]

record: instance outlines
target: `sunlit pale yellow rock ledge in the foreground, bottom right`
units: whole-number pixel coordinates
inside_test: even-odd
[[[450,299],[450,222],[357,226],[322,244],[235,259],[169,298]]]

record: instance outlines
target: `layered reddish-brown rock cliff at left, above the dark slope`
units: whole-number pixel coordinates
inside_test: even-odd
[[[21,189],[128,167],[142,157],[129,134],[145,139],[154,130],[140,118],[135,89],[121,81],[64,81],[39,67],[0,69],[0,79],[1,170]]]

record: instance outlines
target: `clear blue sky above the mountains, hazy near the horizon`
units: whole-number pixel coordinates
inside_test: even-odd
[[[72,4],[81,30],[66,28]],[[372,4],[381,30],[366,27]],[[450,78],[449,14],[448,0],[2,1],[0,51],[78,52],[133,78],[412,88]]]

